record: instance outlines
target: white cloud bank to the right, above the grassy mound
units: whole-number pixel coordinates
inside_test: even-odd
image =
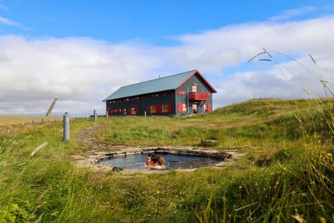
[[[218,91],[214,95],[215,107],[250,98],[306,98],[309,96],[303,91],[306,88],[311,89],[312,96],[323,96],[319,79],[332,83],[334,79],[333,24],[334,17],[319,17],[300,22],[226,26],[181,36],[182,46],[170,49],[170,54],[175,55],[175,66],[193,66],[204,74],[221,76],[220,80],[214,77]],[[262,52],[262,47],[273,51],[274,62],[247,64],[248,59]],[[310,72],[278,53],[292,56]],[[317,66],[308,54],[315,58]],[[223,72],[223,68],[231,66],[241,71]],[[246,68],[251,70],[244,71]]]

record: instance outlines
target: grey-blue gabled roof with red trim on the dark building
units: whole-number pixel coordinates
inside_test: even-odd
[[[109,95],[103,101],[114,100],[118,98],[127,98],[135,95],[143,95],[146,93],[154,93],[158,91],[168,91],[178,89],[184,82],[190,79],[196,73],[202,78],[202,80],[212,89],[213,93],[217,91],[207,82],[207,80],[200,74],[198,70],[191,70],[188,72],[182,72],[177,75],[170,75],[167,77],[161,77],[158,79],[152,79],[146,82],[140,82],[137,84],[131,84],[122,86],[120,89]]]

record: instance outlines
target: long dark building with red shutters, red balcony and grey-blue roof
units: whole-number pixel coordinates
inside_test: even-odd
[[[122,86],[103,101],[109,116],[190,115],[212,112],[214,87],[198,70]]]

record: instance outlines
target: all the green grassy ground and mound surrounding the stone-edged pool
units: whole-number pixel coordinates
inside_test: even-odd
[[[333,222],[333,105],[254,99],[204,116],[85,118],[71,122],[69,142],[61,122],[10,125],[0,131],[0,221]],[[77,168],[70,155],[90,151],[77,134],[92,125],[104,144],[217,139],[215,149],[244,155],[221,169],[164,174]]]

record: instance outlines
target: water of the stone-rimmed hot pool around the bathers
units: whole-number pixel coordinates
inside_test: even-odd
[[[225,157],[215,155],[186,155],[172,153],[156,153],[162,155],[168,169],[196,169],[199,167],[214,167],[218,162],[223,162]],[[145,169],[145,161],[148,153],[134,153],[131,155],[113,155],[104,158],[97,166],[120,167],[124,169]]]

